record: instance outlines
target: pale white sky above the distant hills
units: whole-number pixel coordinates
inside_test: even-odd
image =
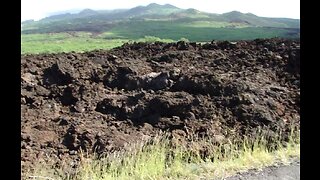
[[[129,9],[150,3],[218,14],[236,10],[262,17],[300,19],[300,0],[21,0],[21,21],[39,20],[54,12],[71,9]]]

